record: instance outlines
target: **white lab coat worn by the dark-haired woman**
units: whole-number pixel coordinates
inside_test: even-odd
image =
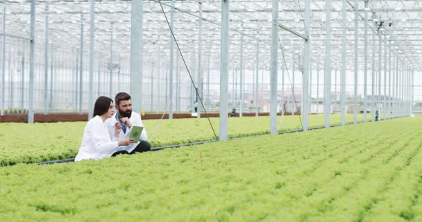
[[[81,147],[75,161],[110,157],[119,147],[117,138],[110,137],[105,122],[99,116],[88,121],[83,132]]]

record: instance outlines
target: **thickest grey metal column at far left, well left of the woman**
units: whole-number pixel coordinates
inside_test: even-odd
[[[35,78],[35,0],[31,0],[31,30],[29,33],[29,90],[28,123],[34,122],[34,78]]]

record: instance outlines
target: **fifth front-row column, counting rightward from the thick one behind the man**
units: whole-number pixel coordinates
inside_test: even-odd
[[[325,126],[330,127],[331,114],[331,0],[326,0],[326,58],[324,69],[324,113]]]

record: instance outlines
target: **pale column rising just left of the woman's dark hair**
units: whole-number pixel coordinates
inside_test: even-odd
[[[90,82],[88,92],[88,120],[94,112],[94,29],[95,29],[95,3],[90,0]]]

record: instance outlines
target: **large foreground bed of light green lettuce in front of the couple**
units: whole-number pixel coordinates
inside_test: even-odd
[[[422,118],[0,168],[2,221],[421,221]]]

